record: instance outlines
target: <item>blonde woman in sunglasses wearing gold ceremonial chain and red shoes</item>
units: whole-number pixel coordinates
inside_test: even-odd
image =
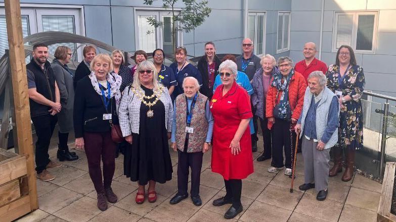
[[[155,184],[172,179],[168,139],[172,128],[173,105],[168,89],[158,83],[158,74],[150,61],[139,64],[134,82],[123,92],[118,110],[122,136],[131,144],[125,150],[124,174],[138,181],[136,203],[157,200]]]

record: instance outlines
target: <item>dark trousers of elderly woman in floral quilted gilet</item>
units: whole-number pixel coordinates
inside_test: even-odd
[[[186,195],[189,168],[191,168],[191,197],[199,195],[199,184],[201,182],[203,152],[182,152],[178,150],[178,193]]]

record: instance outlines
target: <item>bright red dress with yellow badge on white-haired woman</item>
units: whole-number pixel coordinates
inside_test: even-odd
[[[241,120],[253,117],[246,90],[234,81],[223,96],[223,85],[219,85],[210,100],[210,110],[214,119],[212,172],[221,174],[225,180],[245,179],[253,173],[249,126],[239,141],[239,154],[231,153],[230,144]]]

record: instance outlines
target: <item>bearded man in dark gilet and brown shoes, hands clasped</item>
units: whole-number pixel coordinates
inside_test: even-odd
[[[48,62],[48,46],[33,45],[33,59],[26,65],[27,85],[30,103],[30,117],[36,131],[35,161],[37,178],[42,181],[55,179],[47,169],[59,168],[62,164],[50,160],[48,148],[57,114],[61,111],[60,93],[54,71]]]

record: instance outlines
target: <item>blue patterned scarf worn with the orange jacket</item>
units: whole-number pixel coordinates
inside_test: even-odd
[[[290,112],[290,104],[289,104],[289,85],[291,77],[294,75],[294,70],[291,69],[289,75],[286,80],[282,83],[283,75],[281,71],[278,71],[274,74],[274,80],[271,85],[277,88],[276,100],[278,101],[279,91],[282,91],[281,98],[279,99],[279,104],[276,105],[276,110],[274,109],[274,116],[277,116],[281,119],[287,119],[288,112]],[[277,112],[275,114],[275,112]],[[290,115],[290,114],[289,114]]]

